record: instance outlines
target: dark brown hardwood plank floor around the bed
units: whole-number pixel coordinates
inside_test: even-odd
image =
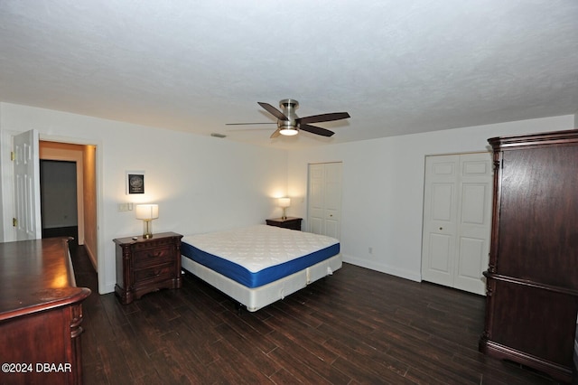
[[[344,264],[274,305],[238,315],[196,277],[120,305],[98,296],[71,247],[84,302],[85,384],[552,384],[478,352],[484,298]]]

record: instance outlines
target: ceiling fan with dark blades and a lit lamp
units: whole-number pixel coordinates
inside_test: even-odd
[[[269,103],[257,102],[259,106],[265,108],[268,113],[277,118],[277,129],[271,135],[272,138],[279,135],[294,136],[299,130],[311,132],[321,136],[332,136],[335,134],[326,128],[312,126],[310,123],[331,122],[333,120],[346,119],[350,117],[347,112],[331,112],[329,114],[312,115],[311,117],[298,117],[295,109],[299,108],[299,102],[295,99],[283,99],[279,101],[279,108],[271,106]],[[228,126],[255,125],[267,123],[228,123]]]

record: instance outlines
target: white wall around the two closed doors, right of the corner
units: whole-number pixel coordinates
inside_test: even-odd
[[[573,125],[573,115],[546,117],[292,151],[288,192],[294,199],[288,213],[307,218],[307,164],[342,161],[344,260],[420,281],[425,155],[489,151],[489,137]]]

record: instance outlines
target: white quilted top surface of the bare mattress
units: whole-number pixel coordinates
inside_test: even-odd
[[[267,225],[188,235],[182,241],[253,273],[339,243],[324,235]]]

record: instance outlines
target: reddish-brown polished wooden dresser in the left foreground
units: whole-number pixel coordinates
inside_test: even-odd
[[[81,302],[68,239],[0,243],[1,383],[81,384]]]

